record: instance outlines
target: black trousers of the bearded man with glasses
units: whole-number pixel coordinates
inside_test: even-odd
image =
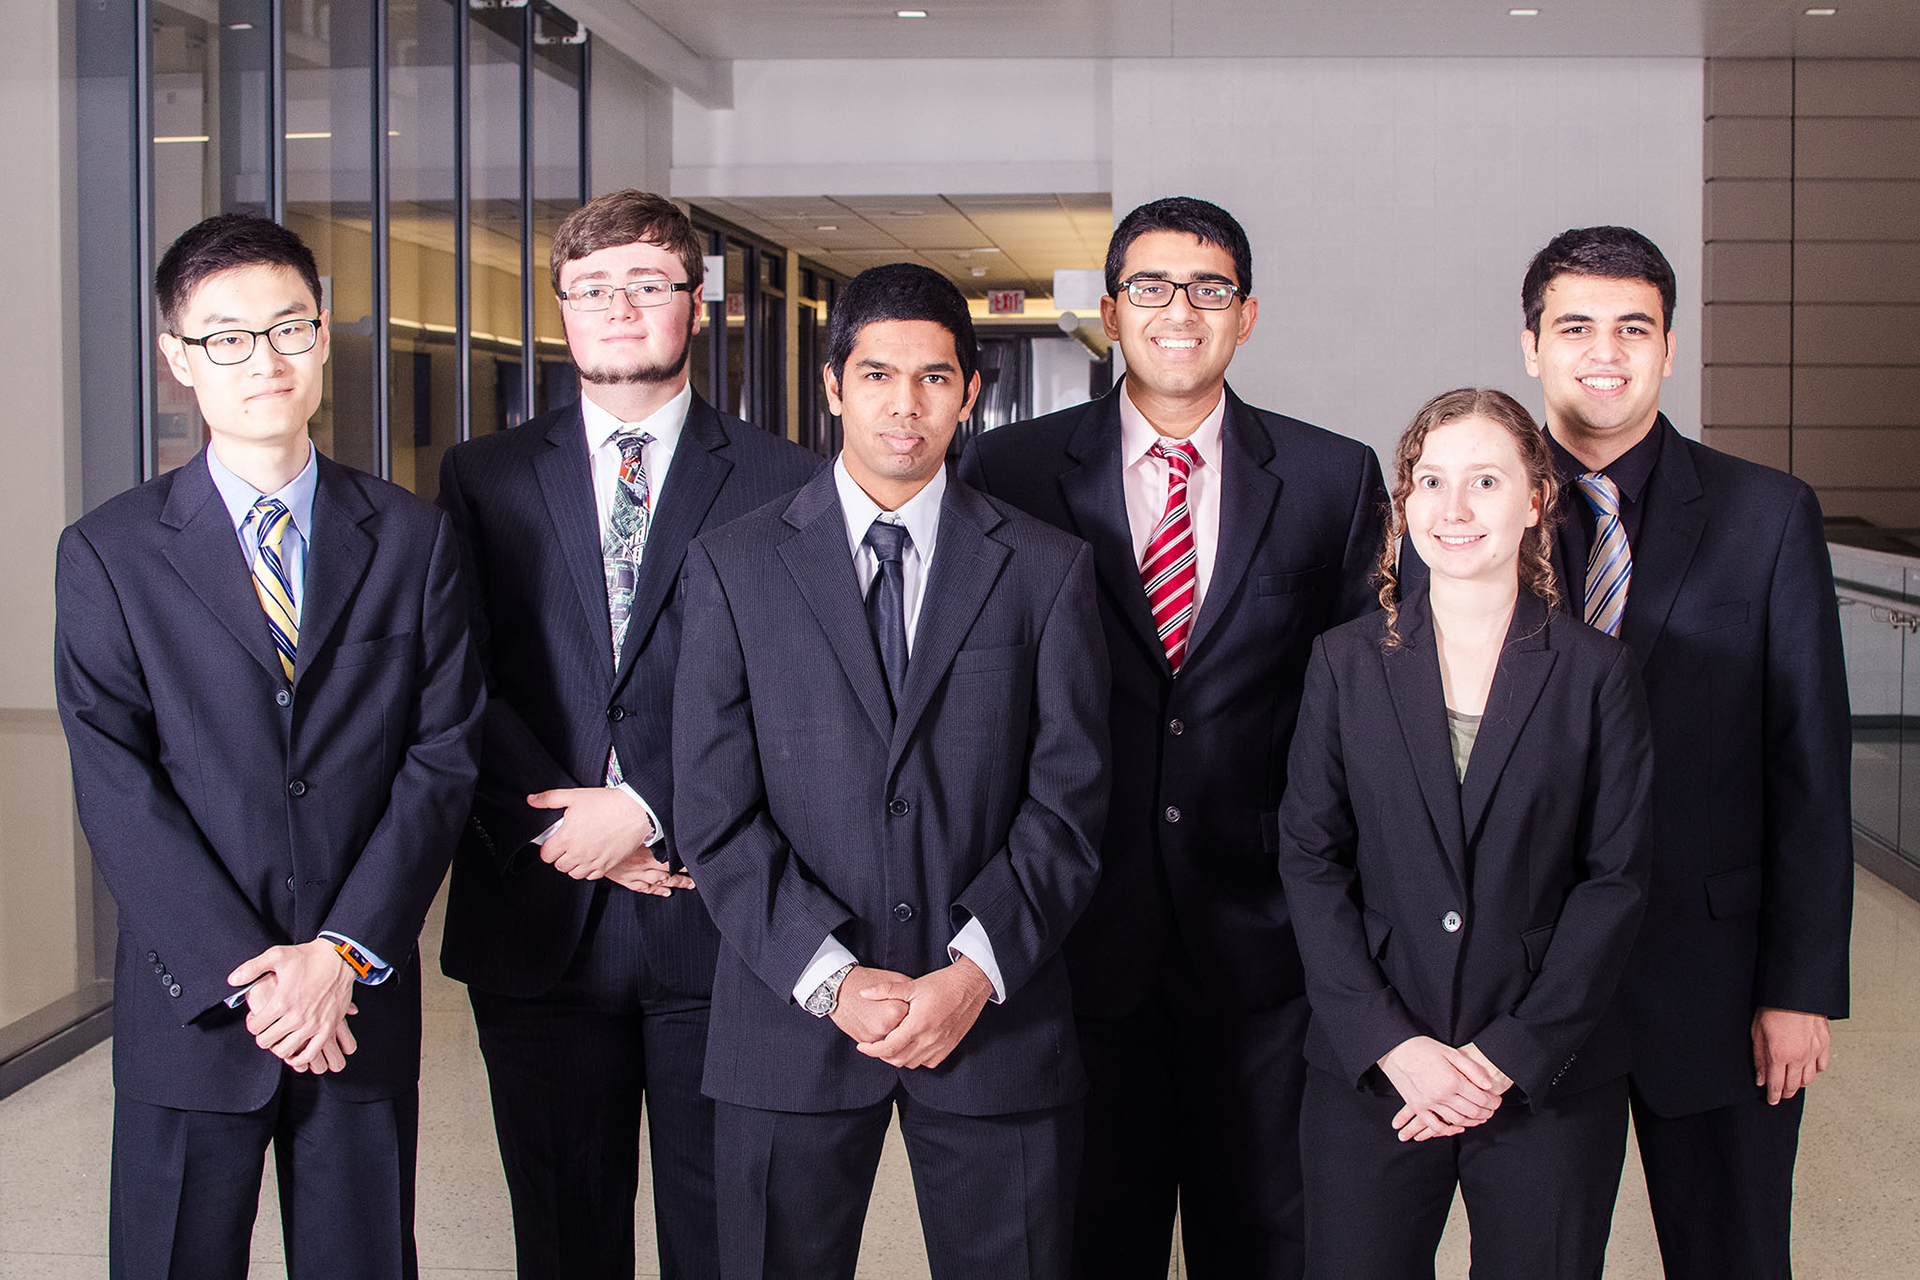
[[[603,881],[551,990],[468,990],[522,1280],[632,1280],[643,1105],[660,1276],[720,1268],[712,1103],[701,1096],[708,998],[651,975],[637,906],[639,894]]]

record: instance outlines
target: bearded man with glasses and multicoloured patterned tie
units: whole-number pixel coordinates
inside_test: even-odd
[[[551,271],[580,403],[440,470],[492,693],[442,965],[472,998],[520,1274],[634,1274],[645,1098],[660,1274],[712,1276],[720,940],[674,844],[674,587],[689,539],[820,459],[687,386],[701,236],[676,205],[595,198]]]

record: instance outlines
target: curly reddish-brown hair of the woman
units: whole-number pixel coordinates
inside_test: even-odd
[[[1394,493],[1386,509],[1386,539],[1380,545],[1380,608],[1386,610],[1386,647],[1400,645],[1400,539],[1407,532],[1407,493],[1413,491],[1413,464],[1421,461],[1427,436],[1436,426],[1461,418],[1486,418],[1505,428],[1526,468],[1526,486],[1540,497],[1540,524],[1521,535],[1521,585],[1546,601],[1559,604],[1553,581],[1553,530],[1559,526],[1559,482],[1553,478],[1553,453],[1534,416],[1517,399],[1494,388],[1459,388],[1442,391],[1421,405],[1394,447]]]

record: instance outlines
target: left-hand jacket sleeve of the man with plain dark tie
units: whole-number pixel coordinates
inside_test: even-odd
[[[674,821],[714,925],[783,1000],[852,912],[806,875],[774,823],[733,612],[712,557],[685,562],[685,620],[674,677]]]

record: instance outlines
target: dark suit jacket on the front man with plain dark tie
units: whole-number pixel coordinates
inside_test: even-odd
[[[899,716],[833,472],[693,545],[680,844],[726,938],[705,1092],[778,1111],[904,1086],[1004,1115],[1085,1088],[1060,938],[1098,877],[1106,654],[1087,547],[948,482]],[[933,1069],[854,1050],[793,984],[833,933],[924,975],[977,919],[1006,1002]]]

